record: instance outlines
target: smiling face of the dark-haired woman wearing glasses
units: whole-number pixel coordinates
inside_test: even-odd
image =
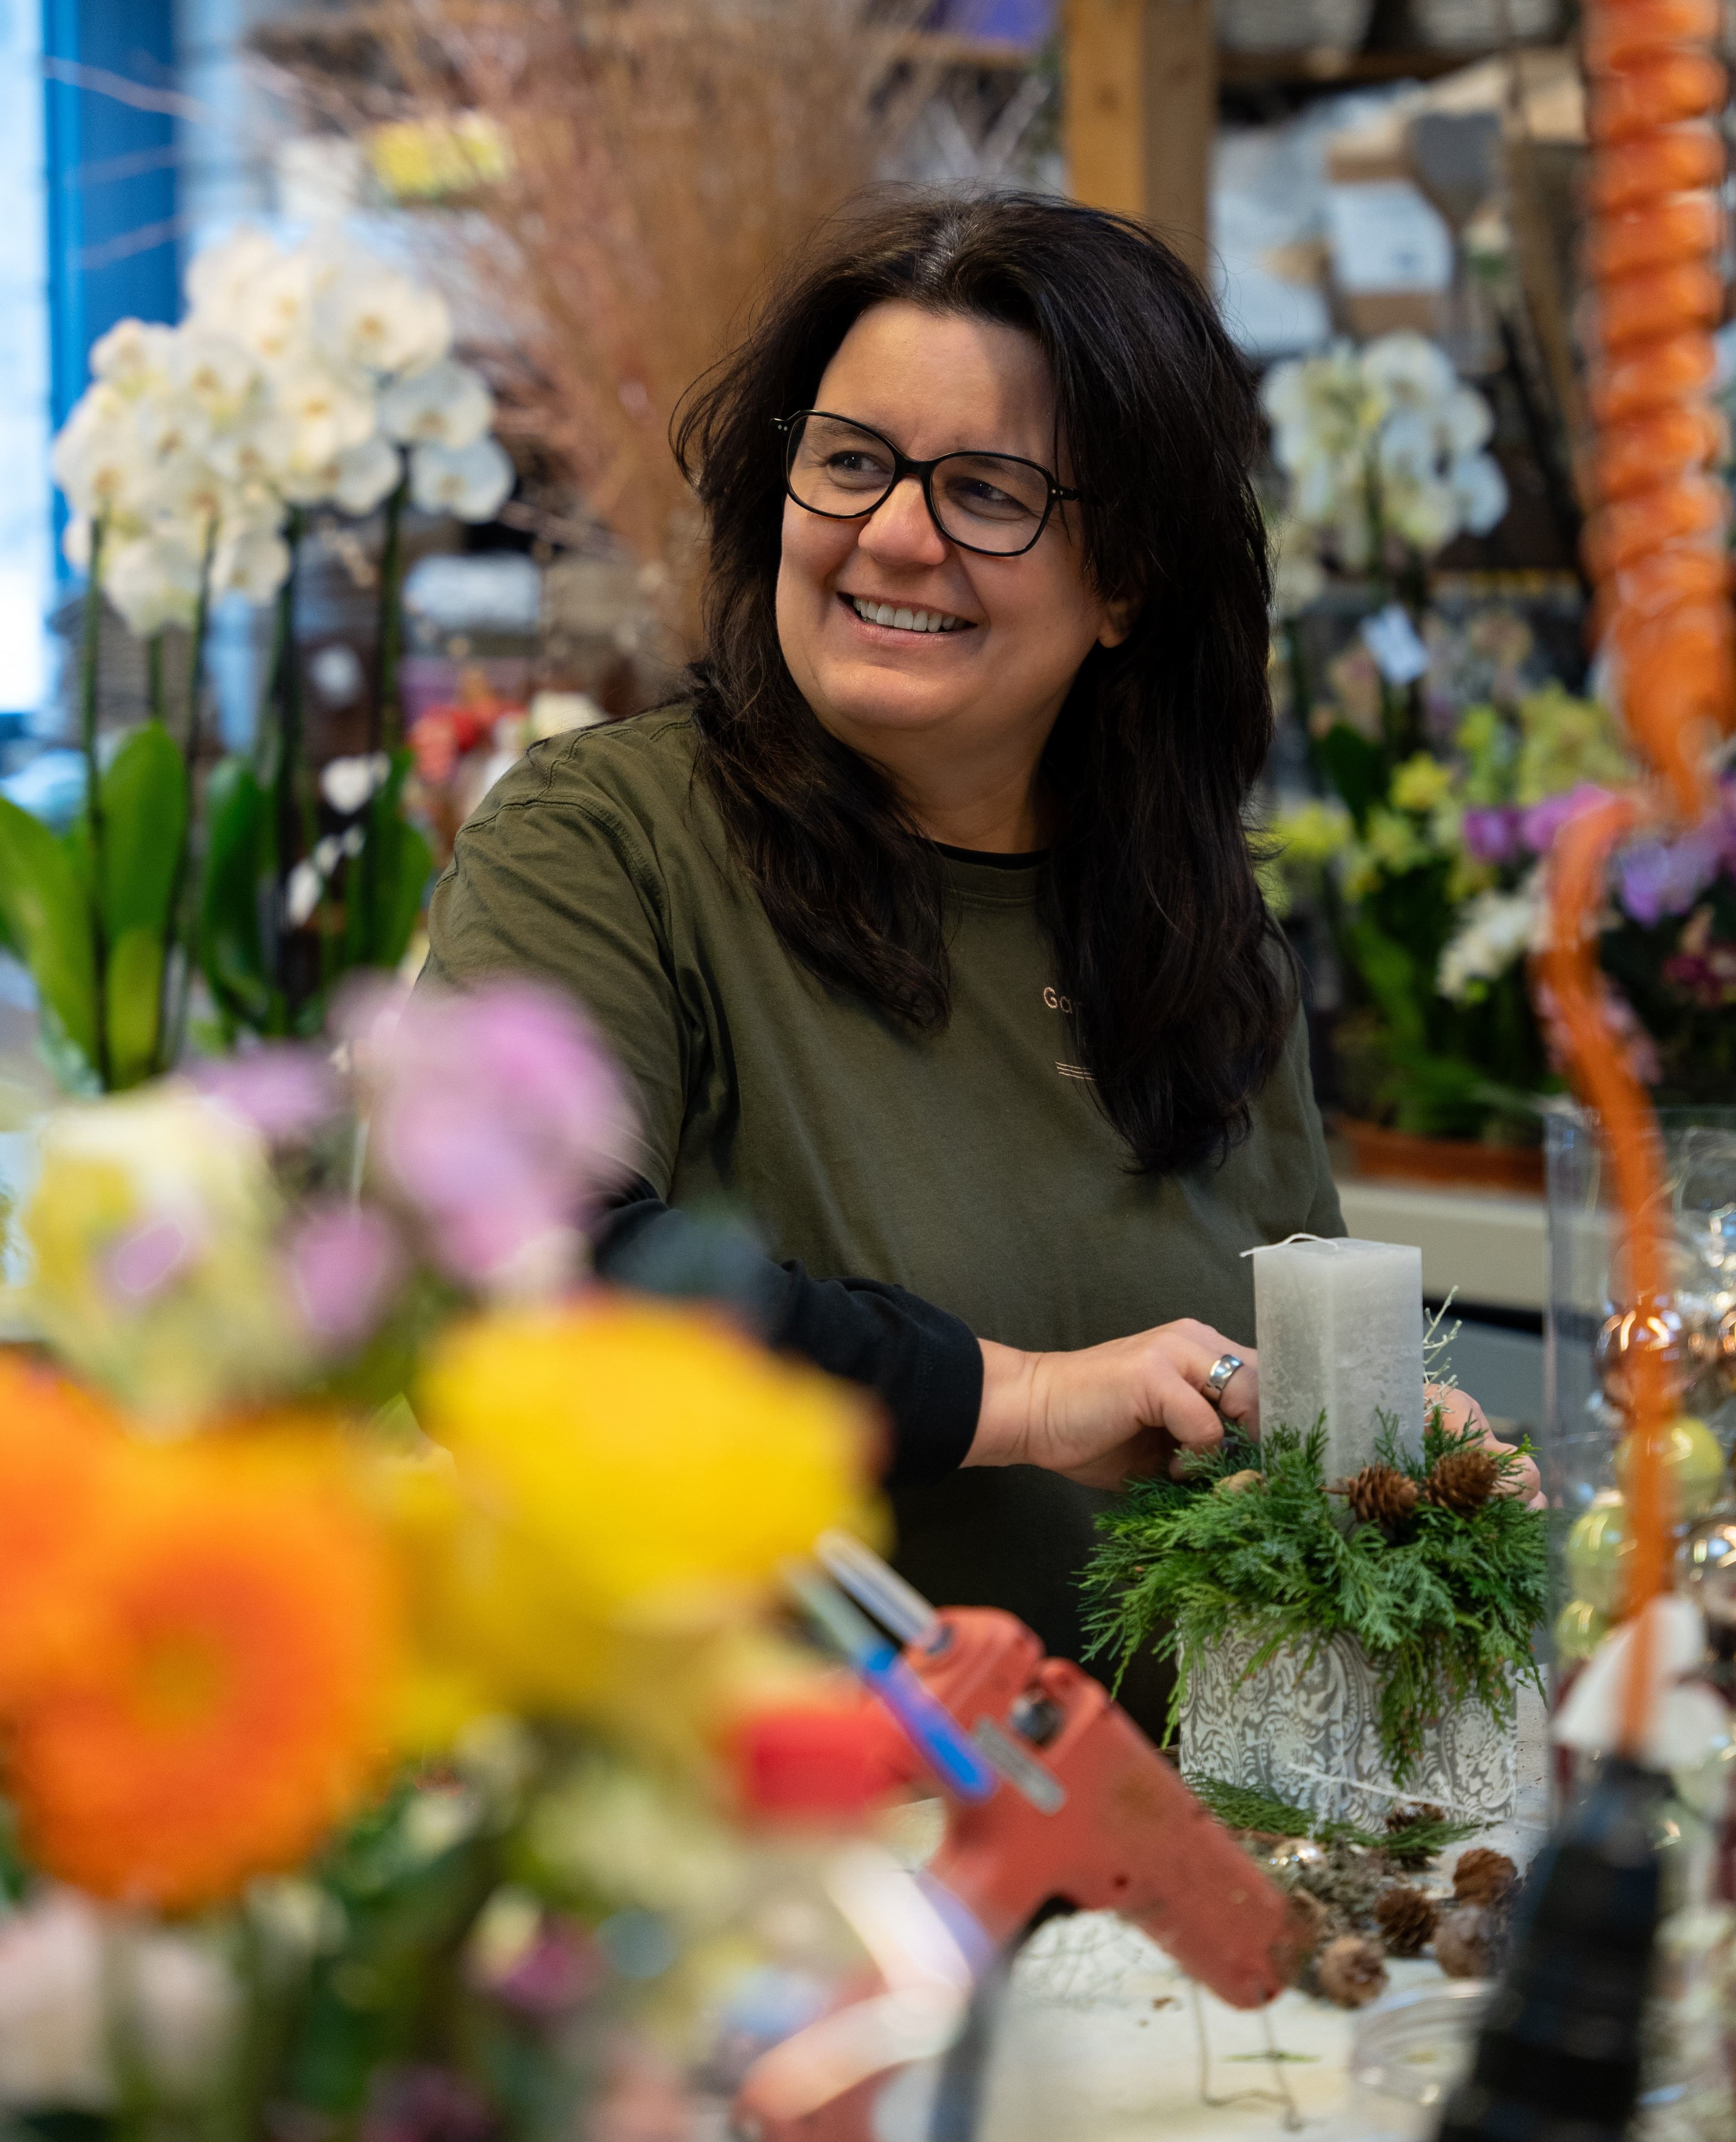
[[[902,300],[864,313],[827,364],[814,407],[883,433],[911,461],[962,448],[1020,454],[1057,482],[1054,390],[1018,328]],[[840,743],[909,763],[911,745],[1042,752],[1087,653],[1125,638],[1119,604],[1084,578],[1076,508],[1057,506],[1020,557],[960,550],[907,478],[866,521],[784,501],[778,638],[797,690]],[[864,604],[954,621],[870,623]]]

